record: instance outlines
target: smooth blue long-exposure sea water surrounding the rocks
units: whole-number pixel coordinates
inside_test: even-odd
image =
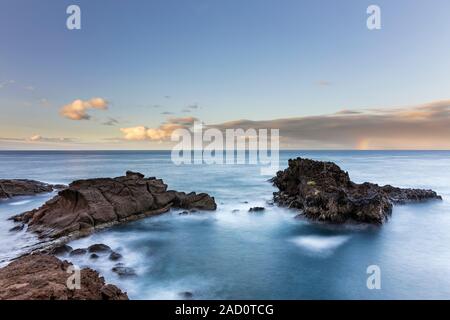
[[[356,182],[431,188],[444,200],[396,206],[382,227],[314,223],[268,204],[275,189],[256,165],[176,166],[168,152],[0,152],[0,178],[70,183],[134,170],[214,196],[213,213],[173,210],[70,243],[120,252],[136,276],[117,276],[107,256],[61,258],[98,270],[132,299],[450,298],[450,152],[283,151],[280,166],[297,156],[334,161]],[[38,241],[9,232],[7,219],[52,196],[0,202],[1,265]],[[266,210],[248,213],[254,206]],[[380,267],[380,290],[367,288],[370,265]]]

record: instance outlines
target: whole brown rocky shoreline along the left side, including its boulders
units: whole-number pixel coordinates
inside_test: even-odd
[[[0,181],[5,198],[51,192],[58,187],[33,180]],[[122,177],[77,180],[58,188],[62,188],[58,195],[40,208],[11,218],[18,223],[11,232],[26,227],[27,232],[41,238],[42,245],[0,269],[0,300],[128,299],[126,293],[105,284],[104,278],[89,268],[81,270],[81,288],[69,289],[67,271],[72,265],[54,255],[90,254],[90,258],[95,259],[106,252],[110,260],[117,261],[121,255],[106,245],[72,250],[65,243],[99,229],[162,214],[171,208],[191,212],[217,208],[214,198],[206,193],[168,190],[161,179],[145,178],[131,171]],[[117,263],[113,269],[119,276],[134,272],[123,263]]]

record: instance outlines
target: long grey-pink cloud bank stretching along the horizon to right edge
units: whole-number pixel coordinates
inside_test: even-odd
[[[450,100],[321,116],[237,120],[212,127],[279,129],[280,143],[289,148],[448,149]]]

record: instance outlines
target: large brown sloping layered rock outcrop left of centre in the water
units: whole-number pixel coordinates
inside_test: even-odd
[[[167,190],[154,177],[128,171],[126,176],[77,180],[42,207],[12,219],[42,238],[79,237],[95,229],[167,212],[171,207],[215,210],[205,193]]]

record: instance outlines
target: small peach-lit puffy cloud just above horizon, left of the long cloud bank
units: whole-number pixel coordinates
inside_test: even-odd
[[[129,141],[163,141],[169,140],[172,132],[177,129],[187,129],[197,121],[194,117],[169,118],[167,122],[157,128],[148,128],[146,126],[137,126],[130,128],[121,128],[125,140]]]

